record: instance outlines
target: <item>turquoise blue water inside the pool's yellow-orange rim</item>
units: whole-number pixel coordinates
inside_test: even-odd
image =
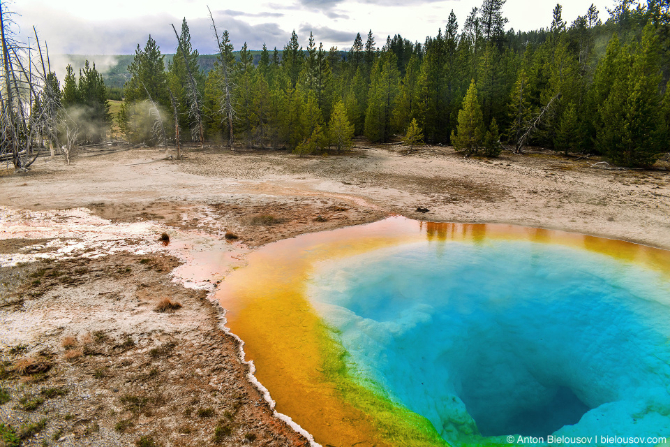
[[[352,374],[447,441],[670,437],[658,272],[553,244],[425,242],[324,263],[308,296]]]

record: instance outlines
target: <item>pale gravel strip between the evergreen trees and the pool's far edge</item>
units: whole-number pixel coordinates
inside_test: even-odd
[[[163,149],[40,161],[28,175],[0,177],[0,205],[47,210],[89,203],[180,205],[330,197],[386,214],[432,221],[516,223],[641,242],[670,249],[670,172],[589,168],[594,160],[513,155],[464,159],[451,148],[412,156],[397,146],[347,156],[281,151]],[[22,186],[26,184],[25,186]],[[417,206],[431,212],[417,214]]]

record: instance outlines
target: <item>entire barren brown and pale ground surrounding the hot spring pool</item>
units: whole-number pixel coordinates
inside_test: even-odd
[[[0,433],[25,446],[306,445],[248,381],[209,299],[274,240],[401,214],[670,249],[667,162],[400,149],[191,148],[177,161],[118,145],[0,174]],[[181,307],[157,312],[164,298]]]

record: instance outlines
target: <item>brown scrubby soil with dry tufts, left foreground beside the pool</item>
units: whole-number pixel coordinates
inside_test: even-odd
[[[177,265],[126,254],[12,269],[24,280],[4,294],[3,423],[46,422],[24,445],[307,445],[246,380],[221,308],[170,281]],[[165,298],[181,307],[159,312]]]

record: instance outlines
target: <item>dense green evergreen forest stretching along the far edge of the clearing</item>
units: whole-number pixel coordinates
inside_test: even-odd
[[[157,142],[161,115],[170,138],[181,129],[182,139],[198,140],[201,128],[205,139],[226,142],[232,131],[238,144],[301,154],[345,149],[352,135],[388,142],[408,128],[485,155],[498,154],[501,141],[604,154],[623,166],[649,166],[667,152],[667,2],[620,0],[604,23],[592,5],[569,25],[559,4],[550,27],[530,32],[505,32],[504,3],[484,0],[462,27],[452,12],[444,33],[422,44],[396,35],[378,47],[371,31],[365,41],[358,34],[344,57],[312,34],[301,47],[294,31],[283,50],[263,45],[254,64],[246,43],[236,60],[224,31],[206,74],[184,19],[167,70],[151,36],[137,45],[121,129]]]

